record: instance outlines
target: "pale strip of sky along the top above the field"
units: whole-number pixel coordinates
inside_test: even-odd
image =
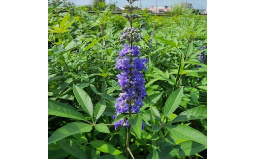
[[[91,4],[92,0],[70,0],[71,2],[74,2],[76,5],[85,5],[85,4]],[[128,4],[127,0],[105,0],[106,3],[114,3],[117,2],[118,7],[123,7],[125,4]],[[149,8],[150,6],[163,6],[163,5],[174,5],[179,4],[182,2],[192,3],[192,7],[194,9],[205,9],[207,6],[207,0],[141,0],[141,4],[143,8]],[[158,3],[158,4],[157,4]],[[133,3],[134,5],[137,5],[140,7],[140,0],[135,1]]]

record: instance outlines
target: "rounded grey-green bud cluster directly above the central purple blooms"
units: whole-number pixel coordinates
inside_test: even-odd
[[[124,28],[123,31],[121,32],[122,35],[120,36],[120,40],[123,42],[138,42],[142,38],[139,29],[137,28]]]

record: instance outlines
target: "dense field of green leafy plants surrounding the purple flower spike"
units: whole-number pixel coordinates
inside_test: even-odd
[[[207,17],[159,17],[135,9],[127,15],[141,17],[128,21],[109,6],[89,13],[89,7],[61,3],[49,4],[48,12],[49,159],[206,157]],[[131,24],[141,38],[127,42],[120,37]],[[132,58],[144,59],[138,61],[145,68],[136,68],[146,96],[139,110],[120,113],[117,99],[127,85],[117,63],[129,46],[141,53],[125,55],[130,76]],[[128,99],[129,109],[141,89]]]

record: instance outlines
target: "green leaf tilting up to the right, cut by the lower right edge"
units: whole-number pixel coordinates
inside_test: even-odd
[[[198,106],[180,113],[173,121],[175,122],[185,122],[195,119],[206,119],[207,118],[207,106]]]

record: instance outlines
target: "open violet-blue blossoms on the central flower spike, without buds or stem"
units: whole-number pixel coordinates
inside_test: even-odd
[[[143,105],[142,100],[146,97],[144,74],[141,71],[146,70],[145,64],[148,59],[139,58],[141,55],[139,46],[124,44],[124,49],[119,52],[119,60],[116,63],[116,68],[122,71],[117,75],[118,84],[122,88],[122,92],[116,100],[115,108],[116,115],[121,113],[139,113],[140,107]],[[118,126],[128,127],[127,119],[121,119],[115,124]],[[143,123],[144,128],[145,123]]]

